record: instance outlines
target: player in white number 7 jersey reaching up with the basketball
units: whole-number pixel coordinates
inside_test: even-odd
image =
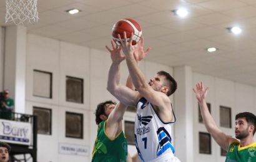
[[[132,37],[131,34],[130,37]],[[168,96],[177,89],[177,83],[167,72],[160,71],[150,79],[139,69],[134,52],[137,45],[132,45],[132,39],[127,42],[126,33],[121,39],[121,49],[124,53],[130,77],[137,91],[130,90],[119,83],[120,62],[112,63],[109,69],[109,80],[112,82],[107,89],[120,102],[129,105],[137,105],[135,121],[135,143],[140,161],[179,161],[174,156],[174,147],[171,144],[170,123],[174,121],[173,110]],[[144,44],[143,38],[139,42]],[[143,47],[143,45],[140,45]],[[140,51],[144,51],[141,50]],[[149,49],[144,52],[148,52]],[[143,54],[142,54],[143,55]],[[117,82],[118,80],[118,82]]]

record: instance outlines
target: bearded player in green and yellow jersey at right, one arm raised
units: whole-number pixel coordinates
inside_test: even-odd
[[[201,82],[197,83],[193,90],[199,102],[200,111],[207,131],[209,131],[210,135],[221,148],[228,151],[225,161],[256,161],[256,142],[254,141],[256,131],[255,115],[253,113],[244,112],[235,116],[235,138],[239,139],[239,141],[231,136],[225,135],[214,122],[214,118],[210,115],[205,100],[208,87],[204,89],[204,84]]]

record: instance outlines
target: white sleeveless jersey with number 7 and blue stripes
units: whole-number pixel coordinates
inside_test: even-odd
[[[135,145],[140,161],[158,161],[160,158],[173,161],[175,150],[171,143],[170,123],[162,122],[155,113],[152,103],[140,98],[134,126]]]

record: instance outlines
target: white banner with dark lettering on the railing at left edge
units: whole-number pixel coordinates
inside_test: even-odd
[[[0,119],[0,140],[7,143],[31,145],[31,123]]]

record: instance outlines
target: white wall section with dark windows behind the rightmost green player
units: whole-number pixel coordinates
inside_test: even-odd
[[[219,126],[219,128],[227,135],[234,137],[235,115],[240,112],[252,112],[256,114],[256,88],[250,85],[232,82],[230,80],[223,80],[209,75],[194,73],[194,86],[201,80],[204,82],[205,87],[210,88],[207,94],[207,102],[211,104],[211,114],[214,117],[217,126]],[[232,128],[220,127],[220,105],[232,108]],[[199,131],[207,132],[204,124],[199,123],[198,103],[194,97],[194,161],[225,161],[225,156],[220,156],[220,147],[213,138],[211,139],[212,155],[199,154]]]

